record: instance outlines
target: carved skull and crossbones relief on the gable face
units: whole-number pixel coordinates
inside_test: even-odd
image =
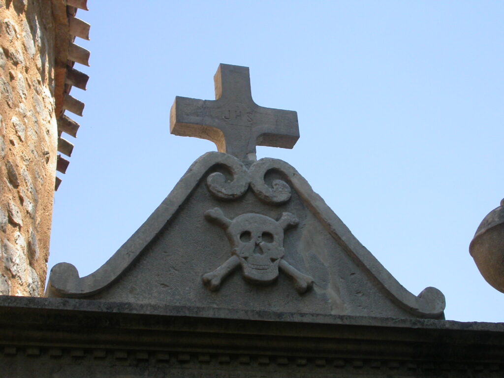
[[[276,221],[261,214],[247,213],[230,220],[221,209],[205,212],[205,219],[222,227],[231,243],[231,257],[211,273],[203,275],[203,283],[212,291],[241,265],[243,277],[253,283],[269,284],[277,279],[278,269],[292,277],[298,293],[313,286],[313,278],[289,265],[284,256],[284,230],[297,225],[297,218],[283,213]]]

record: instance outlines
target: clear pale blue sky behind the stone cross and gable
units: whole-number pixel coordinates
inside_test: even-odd
[[[504,3],[89,0],[86,103],[55,195],[49,268],[99,268],[208,141],[169,134],[175,96],[213,99],[219,63],[296,110],[293,165],[397,280],[447,319],[504,321],[468,246],[504,197]],[[78,67],[79,66],[79,67]]]

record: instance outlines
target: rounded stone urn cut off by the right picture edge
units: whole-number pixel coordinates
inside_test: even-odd
[[[469,252],[486,282],[504,293],[504,199],[479,225]]]

